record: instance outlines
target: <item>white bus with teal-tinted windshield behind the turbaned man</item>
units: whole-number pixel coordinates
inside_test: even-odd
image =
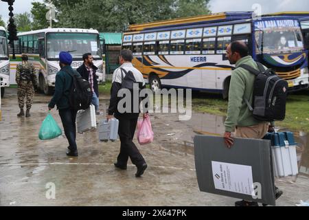
[[[16,66],[21,62],[21,54],[29,56],[38,74],[38,85],[41,91],[50,95],[54,91],[56,73],[60,70],[59,53],[70,52],[73,56],[73,69],[82,65],[82,54],[91,53],[98,67],[97,76],[100,83],[104,82],[102,52],[99,32],[78,28],[48,28],[23,32],[14,41],[16,59],[11,57],[11,83],[15,83]]]

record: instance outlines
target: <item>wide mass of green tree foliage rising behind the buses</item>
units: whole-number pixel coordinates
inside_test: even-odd
[[[49,2],[45,0],[45,3]],[[128,25],[208,14],[209,0],[52,0],[62,28],[122,32]]]

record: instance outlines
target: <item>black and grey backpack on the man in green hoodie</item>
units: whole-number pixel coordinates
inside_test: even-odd
[[[286,116],[286,96],[288,94],[288,82],[277,76],[272,69],[258,63],[258,69],[249,65],[240,65],[256,76],[253,87],[253,106],[246,100],[247,105],[253,111],[253,117],[263,122],[284,120]]]

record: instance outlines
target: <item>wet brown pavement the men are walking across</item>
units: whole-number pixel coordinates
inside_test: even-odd
[[[136,178],[130,162],[128,170],[113,166],[119,142],[99,142],[96,130],[78,134],[78,158],[65,155],[68,144],[63,136],[38,140],[50,98],[36,94],[32,117],[17,118],[16,89],[6,90],[0,122],[0,206],[233,206],[238,200],[200,192],[196,180],[193,137],[222,134],[224,118],[194,113],[192,120],[179,122],[176,114],[152,114],[155,142],[137,144],[148,169]],[[101,111],[107,102],[101,98]],[[62,128],[58,112],[52,115]],[[296,182],[293,177],[277,179],[284,190],[277,206],[309,199],[307,157],[304,154],[304,173]],[[55,187],[55,199],[48,199],[50,186]]]

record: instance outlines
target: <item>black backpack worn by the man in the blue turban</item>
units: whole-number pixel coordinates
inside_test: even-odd
[[[92,99],[92,92],[89,82],[82,78],[82,76],[80,76],[77,72],[74,72],[73,74],[70,72],[67,73],[73,79],[69,92],[69,102],[71,108],[74,110],[88,109]]]

